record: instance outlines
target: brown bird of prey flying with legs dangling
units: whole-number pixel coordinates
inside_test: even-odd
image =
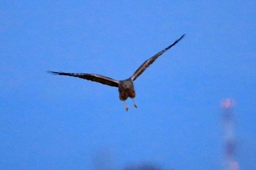
[[[133,105],[137,107],[137,104],[134,101],[135,98],[135,87],[133,85],[133,81],[135,81],[140,74],[142,74],[146,68],[148,68],[148,66],[151,65],[151,63],[153,63],[155,60],[157,60],[157,58],[162,55],[163,53],[165,53],[167,50],[169,50],[171,47],[173,47],[174,45],[176,45],[181,39],[183,39],[185,36],[182,35],[179,39],[177,39],[175,42],[173,42],[172,45],[169,45],[168,47],[166,47],[164,50],[160,51],[159,53],[157,53],[156,55],[154,55],[153,57],[149,58],[148,60],[146,60],[136,71],[134,74],[132,74],[132,77],[129,77],[126,80],[114,80],[110,77],[105,77],[99,74],[88,74],[88,73],[66,73],[66,72],[52,72],[52,71],[48,71],[48,73],[51,74],[56,74],[56,75],[64,75],[64,76],[72,76],[72,77],[78,77],[81,79],[85,79],[85,80],[91,80],[94,82],[99,82],[102,83],[104,85],[110,85],[113,87],[118,88],[118,92],[119,92],[119,98],[121,101],[124,101],[124,107],[125,109],[128,111],[128,107],[126,104],[126,100],[127,98],[132,98],[132,102]]]

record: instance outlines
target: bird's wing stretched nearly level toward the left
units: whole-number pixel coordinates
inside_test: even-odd
[[[72,77],[78,77],[81,79],[85,80],[91,80],[93,82],[99,82],[104,85],[110,85],[113,87],[118,87],[119,81],[118,80],[113,80],[110,77],[105,77],[99,74],[86,74],[86,73],[64,73],[64,72],[51,72],[48,71],[50,74],[55,74],[55,75],[64,75],[64,76],[72,76]]]

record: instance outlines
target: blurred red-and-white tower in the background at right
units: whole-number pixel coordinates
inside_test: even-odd
[[[224,170],[238,170],[238,162],[235,161],[236,139],[234,135],[234,102],[230,98],[222,101],[222,119],[224,123]]]

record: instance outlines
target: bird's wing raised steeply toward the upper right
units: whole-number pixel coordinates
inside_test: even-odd
[[[157,53],[156,55],[154,55],[153,57],[149,58],[148,60],[146,60],[136,71],[135,73],[132,75],[132,77],[130,77],[130,79],[132,81],[136,80],[137,77],[140,76],[140,74],[142,74],[146,68],[148,68],[148,66],[151,65],[151,63],[153,63],[155,60],[157,60],[157,58],[162,55],[163,53],[165,53],[167,50],[169,50],[171,47],[173,47],[174,45],[176,45],[181,39],[183,39],[183,37],[185,36],[182,35],[179,39],[177,39],[175,42],[173,42],[172,45],[166,47],[164,50],[160,51],[159,53]]]

